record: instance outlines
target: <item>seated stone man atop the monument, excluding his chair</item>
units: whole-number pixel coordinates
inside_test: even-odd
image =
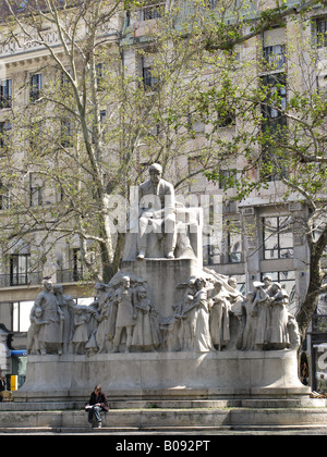
[[[148,235],[157,234],[164,238],[164,254],[168,259],[174,258],[175,248],[175,202],[173,185],[162,180],[162,168],[158,163],[149,166],[149,181],[138,188],[140,234],[137,259],[150,257]]]

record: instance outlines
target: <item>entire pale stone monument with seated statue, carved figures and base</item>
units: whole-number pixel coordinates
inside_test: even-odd
[[[16,400],[307,395],[298,378],[299,331],[288,296],[266,276],[243,297],[202,267],[202,213],[178,207],[161,168],[140,186],[138,233],[119,271],[76,306],[60,286],[31,312],[26,382]]]

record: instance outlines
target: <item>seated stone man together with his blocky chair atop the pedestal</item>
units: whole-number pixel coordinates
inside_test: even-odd
[[[162,178],[158,163],[149,166],[150,178],[131,194],[123,261],[135,259],[196,259],[202,265],[203,210],[175,196]]]

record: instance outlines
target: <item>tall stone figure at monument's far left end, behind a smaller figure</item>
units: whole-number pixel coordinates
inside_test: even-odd
[[[64,314],[61,311],[57,297],[52,293],[52,283],[50,280],[44,280],[44,291],[38,294],[31,310],[29,319],[35,317],[36,308],[41,308],[43,319],[47,322],[43,332],[40,344],[46,353],[62,354],[62,328]]]

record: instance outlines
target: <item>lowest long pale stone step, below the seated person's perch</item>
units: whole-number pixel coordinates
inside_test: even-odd
[[[104,428],[140,430],[232,427],[327,427],[327,408],[190,408],[112,409],[102,413]],[[87,413],[81,410],[2,411],[0,429],[85,428]]]

